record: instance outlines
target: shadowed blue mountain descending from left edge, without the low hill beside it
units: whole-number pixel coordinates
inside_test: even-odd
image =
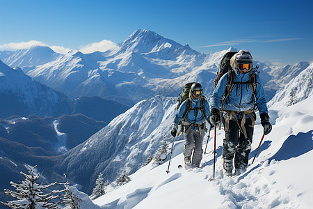
[[[0,116],[13,114],[55,115],[67,109],[67,97],[33,81],[21,69],[13,70],[0,61]]]

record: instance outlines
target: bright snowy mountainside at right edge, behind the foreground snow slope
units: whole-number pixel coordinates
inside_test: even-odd
[[[300,64],[299,64],[300,65]],[[307,66],[302,63],[300,66]],[[300,68],[299,66],[299,68]],[[269,107],[282,107],[309,98],[313,94],[313,63],[307,66],[305,70],[280,88],[278,93],[268,102]]]

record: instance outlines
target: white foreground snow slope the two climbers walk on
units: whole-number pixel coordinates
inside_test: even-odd
[[[313,208],[312,102],[313,96],[289,107],[270,109],[273,131],[264,137],[246,173],[220,176],[223,130],[218,130],[216,180],[208,182],[213,178],[211,154],[204,155],[200,169],[177,169],[183,163],[184,144],[178,139],[169,174],[165,172],[168,162],[156,168],[150,163],[132,174],[130,183],[93,202],[102,208]],[[257,121],[250,163],[262,132]],[[214,147],[212,137],[207,152]]]

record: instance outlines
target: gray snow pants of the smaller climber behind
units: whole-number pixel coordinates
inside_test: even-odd
[[[200,162],[202,160],[202,141],[204,137],[205,131],[203,129],[194,130],[191,127],[187,129],[187,127],[184,128],[184,139],[185,139],[185,145],[184,145],[184,156],[185,157],[191,157],[192,153],[192,159],[191,164],[193,167],[199,167]]]

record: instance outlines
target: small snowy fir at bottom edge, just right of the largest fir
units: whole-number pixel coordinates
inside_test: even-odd
[[[66,181],[66,183],[63,183],[64,189],[58,192],[65,192],[65,194],[62,194],[61,197],[61,203],[65,206],[63,209],[79,209],[79,202],[81,199],[79,199],[78,196],[73,194],[73,192],[70,189],[70,183]]]

